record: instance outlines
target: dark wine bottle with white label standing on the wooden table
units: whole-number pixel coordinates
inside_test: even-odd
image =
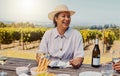
[[[96,35],[95,46],[92,52],[92,63],[91,63],[92,67],[100,66],[100,49],[98,43],[99,43],[99,39],[98,39],[98,35]]]

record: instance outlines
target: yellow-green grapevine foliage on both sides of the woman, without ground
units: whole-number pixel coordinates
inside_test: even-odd
[[[11,44],[15,40],[27,43],[37,40],[41,40],[47,28],[0,28],[0,44]],[[83,37],[83,42],[89,43],[95,39],[96,34],[98,34],[100,39],[105,39],[109,44],[112,44],[116,39],[115,32],[113,30],[80,30]]]

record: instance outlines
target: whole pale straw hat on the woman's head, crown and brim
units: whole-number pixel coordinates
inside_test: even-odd
[[[59,12],[62,12],[62,11],[68,11],[68,12],[70,12],[70,15],[71,15],[71,16],[75,13],[75,11],[69,10],[66,5],[61,4],[61,5],[56,6],[56,8],[54,9],[54,11],[52,11],[52,12],[50,12],[50,13],[48,14],[48,18],[49,18],[50,20],[53,20],[55,14],[57,14],[57,13],[59,13]]]

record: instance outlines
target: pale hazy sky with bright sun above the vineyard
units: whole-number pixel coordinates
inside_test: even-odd
[[[120,0],[0,0],[0,21],[52,23],[59,4],[76,12],[72,25],[120,24]]]

